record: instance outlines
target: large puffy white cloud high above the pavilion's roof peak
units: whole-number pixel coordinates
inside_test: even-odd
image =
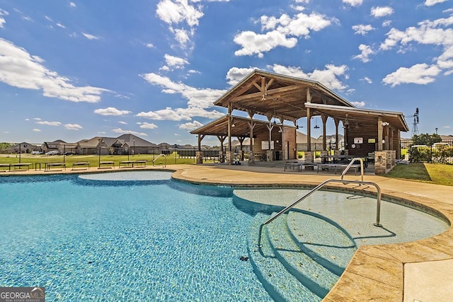
[[[234,42],[241,46],[234,52],[236,56],[256,54],[263,57],[275,47],[292,48],[297,45],[299,37],[309,38],[313,31],[319,31],[331,25],[332,20],[319,13],[298,13],[292,18],[282,14],[280,18],[261,16],[261,30],[265,33],[254,33],[247,30],[234,37]]]

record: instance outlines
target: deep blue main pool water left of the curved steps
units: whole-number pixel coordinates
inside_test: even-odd
[[[45,286],[48,301],[273,301],[245,257],[254,216],[278,208],[170,175],[0,178],[0,286]],[[277,191],[265,194],[294,199]]]

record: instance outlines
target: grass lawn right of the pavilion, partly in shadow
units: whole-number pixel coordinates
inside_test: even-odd
[[[430,182],[437,185],[453,185],[453,165],[442,163],[409,163],[396,165],[388,178],[402,178],[420,182]]]

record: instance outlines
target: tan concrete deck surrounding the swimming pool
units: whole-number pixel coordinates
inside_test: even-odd
[[[98,170],[67,170],[52,173],[97,173],[117,170],[151,170],[158,168],[121,168]],[[281,185],[315,186],[333,173],[284,171],[283,165],[168,165],[175,170],[173,178],[210,185]],[[50,173],[14,171],[1,175],[30,175]],[[360,176],[348,174],[347,180]],[[366,173],[364,180],[381,187],[383,198],[409,200],[420,207],[435,209],[453,221],[453,187],[430,185],[423,182],[396,180]],[[336,185],[336,187],[338,187]],[[342,186],[344,187],[344,186]],[[349,186],[352,190],[352,186]],[[369,192],[375,192],[369,189]],[[269,204],[280,204],[278,200]],[[437,236],[410,243],[392,245],[364,245],[358,248],[337,284],[323,299],[337,301],[451,301],[453,296],[453,228]]]

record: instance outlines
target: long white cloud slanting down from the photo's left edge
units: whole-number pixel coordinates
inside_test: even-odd
[[[92,86],[76,87],[64,76],[45,68],[38,56],[0,38],[0,81],[10,86],[42,90],[50,98],[72,102],[96,103],[107,89]]]

